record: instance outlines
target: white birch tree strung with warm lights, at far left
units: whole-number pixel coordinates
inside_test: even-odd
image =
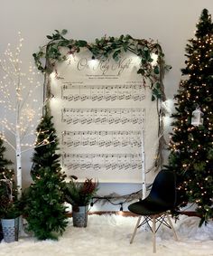
[[[21,50],[23,38],[19,33],[19,42],[13,51],[8,43],[4,59],[0,60],[0,81],[2,105],[1,138],[15,152],[16,183],[19,197],[22,194],[22,154],[31,150],[35,144],[34,130],[42,116],[41,102],[35,98],[42,88],[35,67],[22,71]],[[29,143],[30,141],[30,143]]]

